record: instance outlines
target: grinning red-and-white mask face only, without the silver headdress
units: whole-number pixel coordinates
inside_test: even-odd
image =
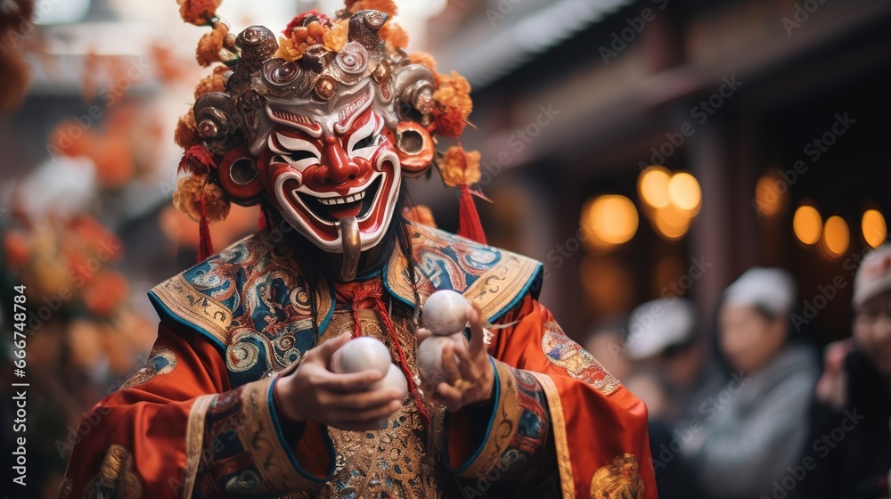
[[[387,232],[401,184],[399,158],[372,89],[333,116],[267,108],[274,121],[259,157],[269,198],[316,246],[342,250],[339,221],[356,217],[361,250]],[[265,168],[264,168],[265,167]]]

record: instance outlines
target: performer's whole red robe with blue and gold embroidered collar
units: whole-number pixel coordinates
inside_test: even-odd
[[[416,372],[413,290],[395,251],[360,279],[383,290],[387,309],[356,307],[335,282],[310,286],[290,246],[260,233],[151,291],[158,340],[146,366],[87,414],[99,422],[76,446],[60,497],[656,497],[646,407],[535,299],[541,265],[410,231],[422,298],[457,290],[490,322],[516,322],[489,346],[489,405],[428,405],[428,423],[409,397],[369,432],[280,421],[276,380],[356,320]]]

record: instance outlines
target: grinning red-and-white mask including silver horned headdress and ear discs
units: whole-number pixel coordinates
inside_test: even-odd
[[[245,29],[226,92],[201,95],[193,110],[234,202],[266,198],[308,241],[345,261],[380,244],[402,176],[421,175],[433,160],[435,77],[386,51],[377,35],[386,17],[356,12],[340,52],[312,45],[297,61],[274,57],[269,29]]]

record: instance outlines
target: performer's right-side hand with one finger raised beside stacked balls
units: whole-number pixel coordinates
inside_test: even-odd
[[[454,413],[464,405],[482,404],[492,397],[495,369],[483,341],[483,323],[479,307],[469,307],[470,345],[449,342],[443,348],[443,371],[448,382],[439,383],[436,396]],[[426,334],[426,333],[425,333]],[[421,339],[421,338],[419,338]],[[458,363],[455,364],[455,356]]]

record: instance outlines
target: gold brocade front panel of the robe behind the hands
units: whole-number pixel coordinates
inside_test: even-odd
[[[380,339],[390,349],[391,355],[396,356],[396,348],[387,332],[382,330],[377,313],[361,309],[358,315],[363,334]],[[394,317],[396,337],[405,348],[408,364],[415,372],[415,339],[403,322]],[[319,341],[346,331],[353,331],[350,315],[335,315]],[[430,440],[441,443],[444,409],[429,405],[427,409],[434,421]],[[329,428],[328,432],[337,455],[333,478],[323,487],[295,497],[342,497],[352,493],[363,498],[440,496],[436,470],[430,464],[434,454],[428,449],[427,431],[410,398],[405,399],[402,408],[392,414],[380,430],[342,431]]]

